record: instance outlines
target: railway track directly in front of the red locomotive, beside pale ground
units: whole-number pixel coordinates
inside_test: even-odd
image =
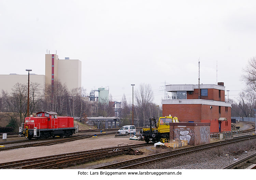
[[[115,132],[109,132],[108,134],[115,134]],[[42,143],[39,142],[39,143],[23,144],[23,145],[17,145],[17,146],[1,147],[0,151],[10,150],[10,149],[17,149],[17,148],[24,148],[24,147],[49,146],[49,145],[54,145],[54,144],[59,144],[59,143],[64,143],[64,142],[69,142],[69,141],[75,141],[75,140],[79,140],[79,139],[90,138],[93,135],[94,134],[80,135],[80,136],[77,136],[77,137],[69,137],[69,138],[65,138],[65,139],[61,138],[61,139],[48,141],[48,142],[42,142]],[[106,133],[98,134],[97,136],[103,136],[103,135],[106,135]]]

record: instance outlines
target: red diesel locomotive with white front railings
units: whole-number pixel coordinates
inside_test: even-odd
[[[38,112],[35,117],[26,117],[19,127],[19,136],[32,138],[49,138],[55,136],[72,136],[75,133],[74,119],[58,116],[56,112]]]

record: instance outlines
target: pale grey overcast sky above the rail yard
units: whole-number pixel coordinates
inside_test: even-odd
[[[256,55],[256,1],[0,0],[0,74],[45,73],[46,49],[82,61],[82,86],[109,86],[117,101],[151,84],[224,82],[244,87],[242,68]],[[1,85],[2,86],[2,85]]]

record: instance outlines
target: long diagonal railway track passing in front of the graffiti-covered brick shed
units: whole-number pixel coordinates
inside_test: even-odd
[[[168,152],[162,152],[159,154],[155,155],[150,155],[150,156],[145,156],[141,158],[136,158],[132,160],[127,160],[123,162],[118,162],[118,163],[113,163],[109,165],[104,165],[104,166],[99,166],[93,169],[127,169],[127,168],[133,168],[136,166],[141,166],[144,164],[148,164],[154,161],[161,161],[165,160],[168,158],[176,157],[176,156],[181,156],[184,154],[189,154],[195,151],[200,151],[208,148],[213,148],[213,147],[218,147],[230,143],[235,143],[235,142],[240,142],[248,139],[255,139],[256,135],[250,136],[250,137],[241,137],[241,138],[236,138],[236,139],[229,139],[229,140],[224,140],[224,141],[219,141],[219,142],[214,142],[214,143],[209,143],[209,144],[203,144],[203,145],[198,145],[198,146],[193,146],[193,147],[187,147],[187,148],[182,148],[182,149],[177,149],[177,150],[172,150]]]

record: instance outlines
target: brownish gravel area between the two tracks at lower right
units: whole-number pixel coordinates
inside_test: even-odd
[[[254,149],[247,149],[248,143],[254,144]],[[153,162],[147,165],[138,166],[134,169],[222,169],[227,165],[234,163],[234,158],[245,158],[256,152],[256,140],[247,140],[245,142],[224,145],[217,148],[202,150],[199,152],[182,155],[180,157],[169,158],[165,161]],[[239,155],[231,155],[236,147],[244,148]]]

